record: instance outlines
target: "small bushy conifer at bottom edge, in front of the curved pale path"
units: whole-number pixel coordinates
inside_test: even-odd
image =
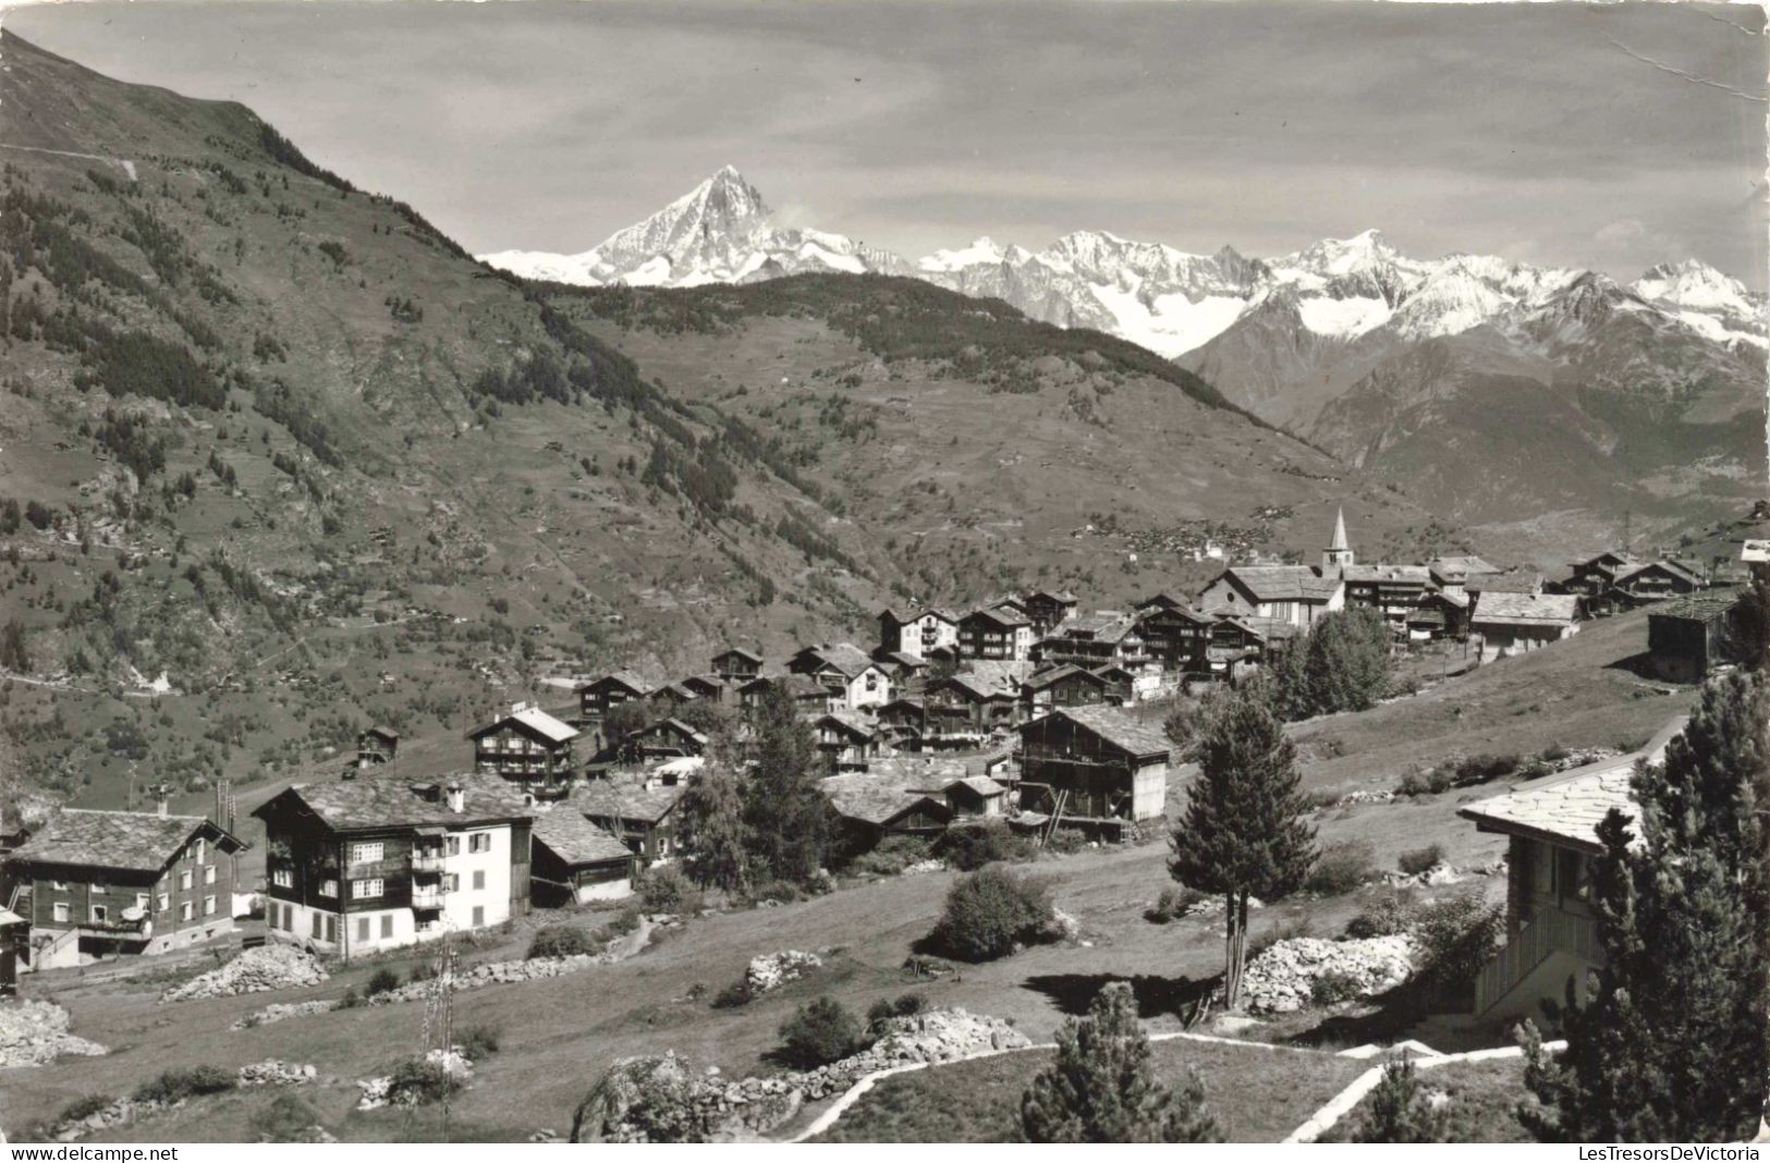
[[[1057,1032],[1057,1060],[1020,1099],[1035,1144],[1214,1144],[1223,1140],[1195,1071],[1170,1090],[1156,1080],[1131,986],[1115,981],[1089,1016]]]

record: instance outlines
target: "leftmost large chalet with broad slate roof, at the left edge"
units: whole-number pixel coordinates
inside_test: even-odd
[[[62,807],[5,855],[32,970],[156,956],[234,931],[234,855],[202,816]]]

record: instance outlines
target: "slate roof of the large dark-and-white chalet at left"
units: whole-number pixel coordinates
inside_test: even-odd
[[[450,811],[448,784],[460,784],[466,805]],[[280,805],[294,805],[317,816],[333,832],[373,828],[409,828],[421,825],[469,827],[503,823],[535,816],[522,788],[496,775],[446,775],[437,781],[411,781],[393,775],[338,779],[322,784],[294,784],[258,805],[253,816],[267,820]]]

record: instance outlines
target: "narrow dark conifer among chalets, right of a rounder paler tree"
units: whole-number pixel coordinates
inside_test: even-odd
[[[830,802],[818,788],[818,743],[781,690],[770,690],[756,710],[745,758],[743,834],[752,874],[811,882],[823,867]]]

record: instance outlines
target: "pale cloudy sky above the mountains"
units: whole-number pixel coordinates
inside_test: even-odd
[[[142,0],[5,27],[244,101],[474,251],[588,250],[729,163],[908,257],[1377,227],[1418,257],[1694,255],[1765,287],[1749,5]]]

